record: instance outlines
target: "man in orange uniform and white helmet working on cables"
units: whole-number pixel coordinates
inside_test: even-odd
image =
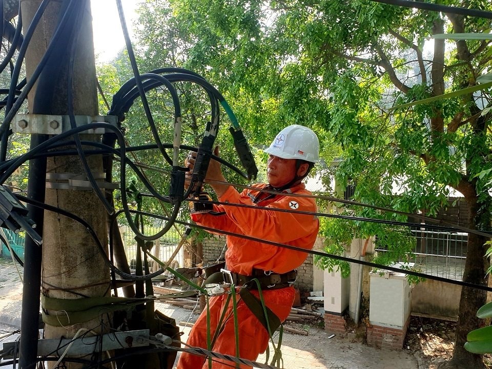
[[[309,128],[292,125],[284,128],[275,137],[270,147],[264,150],[270,154],[268,159],[268,184],[254,185],[258,190],[236,191],[224,176],[220,163],[211,160],[206,175],[222,203],[245,204],[257,208],[234,207],[228,204],[215,205],[213,212],[192,213],[192,220],[201,226],[226,231],[236,236],[227,236],[226,265],[236,286],[257,278],[260,282],[263,299],[267,307],[283,322],[294,303],[296,271],[308,253],[282,248],[277,245],[252,241],[239,237],[250,236],[311,250],[316,240],[319,221],[315,215],[297,212],[316,212],[313,198],[292,195],[311,195],[305,189],[302,179],[308,175],[318,161],[319,141]],[[216,148],[218,155],[218,148]],[[188,156],[185,163],[191,171],[195,163],[195,153]],[[190,171],[190,173],[191,173]],[[189,182],[188,178],[188,182]],[[260,190],[276,191],[275,194]],[[291,195],[292,194],[292,195]],[[287,211],[274,211],[282,209]],[[227,276],[225,279],[228,279]],[[227,282],[227,280],[226,280]],[[277,283],[274,283],[277,282]],[[247,283],[248,290],[259,297],[256,283]],[[239,288],[240,289],[240,288]],[[218,329],[212,351],[236,356],[236,340],[232,302],[226,304],[227,295],[210,298],[211,337]],[[222,311],[226,309],[225,321],[217,327]],[[269,334],[260,324],[258,317],[250,310],[243,299],[237,303],[239,357],[256,360],[268,346]],[[273,332],[272,332],[273,333]],[[212,338],[211,338],[212,339]],[[205,310],[194,324],[188,344],[207,349],[207,311]],[[212,368],[225,369],[235,366],[230,361],[213,359]],[[181,353],[177,369],[206,369],[209,367],[205,357]],[[240,365],[241,368],[250,366]]]

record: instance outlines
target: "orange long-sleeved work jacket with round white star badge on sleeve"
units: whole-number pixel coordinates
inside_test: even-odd
[[[268,185],[254,185],[255,188],[269,188]],[[269,240],[311,250],[318,235],[319,221],[312,214],[298,214],[291,211],[316,212],[313,198],[294,197],[290,194],[311,195],[303,183],[272,195],[252,189],[242,193],[232,186],[219,198],[229,204],[214,205],[212,213],[195,213],[192,219],[201,226],[214,228],[213,232],[227,231],[261,240]],[[254,208],[236,207],[245,204]],[[272,209],[288,210],[287,212]],[[251,275],[252,270],[261,269],[275,273],[286,273],[298,268],[308,253],[290,250],[236,236],[227,236],[226,264],[234,273]]]

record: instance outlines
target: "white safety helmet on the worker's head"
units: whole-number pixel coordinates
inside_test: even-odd
[[[264,152],[283,159],[302,159],[315,163],[319,161],[318,136],[308,127],[285,127]]]

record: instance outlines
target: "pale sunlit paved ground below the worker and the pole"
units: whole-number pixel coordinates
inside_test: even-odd
[[[22,270],[21,270],[22,273]],[[156,308],[176,322],[194,322],[197,315],[190,310],[159,303]],[[11,260],[0,258],[0,331],[20,327],[22,284]],[[3,325],[2,325],[3,324]],[[8,325],[8,326],[7,326]],[[10,327],[9,327],[10,326]],[[180,326],[185,340],[188,327]],[[389,351],[353,343],[346,338],[328,338],[329,332],[310,327],[308,336],[284,332],[283,367],[286,369],[424,369],[408,351]],[[2,334],[0,334],[0,339]],[[12,338],[10,338],[12,339]],[[1,342],[0,342],[1,344]],[[271,351],[272,352],[272,351]],[[258,362],[264,362],[264,355]]]

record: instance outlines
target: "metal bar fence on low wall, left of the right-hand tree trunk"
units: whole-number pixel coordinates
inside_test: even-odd
[[[418,271],[443,278],[462,280],[465,269],[465,259],[468,235],[463,232],[437,232],[412,229],[416,245],[413,258]],[[376,251],[386,252],[378,249]]]

